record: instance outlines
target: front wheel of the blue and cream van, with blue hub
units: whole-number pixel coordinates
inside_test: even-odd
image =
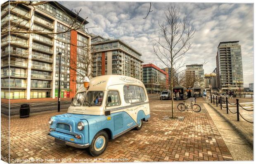
[[[92,144],[89,147],[89,152],[93,157],[101,155],[107,148],[109,136],[104,130],[98,132],[92,139]]]

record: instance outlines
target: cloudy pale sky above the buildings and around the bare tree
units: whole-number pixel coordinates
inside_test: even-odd
[[[143,64],[161,66],[154,55],[153,44],[159,37],[159,22],[164,21],[168,2],[61,2],[69,9],[81,9],[79,14],[87,18],[89,32],[105,38],[120,38],[142,53]],[[244,87],[253,83],[253,4],[237,3],[175,3],[181,16],[186,15],[196,33],[192,48],[182,59],[183,64],[202,64],[204,72],[216,68],[219,42],[239,41],[242,49]],[[180,60],[181,61],[181,60]],[[185,67],[184,67],[185,69]]]

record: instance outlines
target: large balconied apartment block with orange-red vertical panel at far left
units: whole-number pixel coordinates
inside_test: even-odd
[[[81,52],[89,52],[77,47],[90,46],[90,35],[83,30],[88,21],[78,16],[76,23],[80,23],[82,29],[68,30],[76,14],[57,2],[1,8],[1,29],[8,27],[10,21],[11,28],[38,31],[38,34],[11,33],[2,36],[1,98],[55,98],[58,85],[61,85],[61,97],[73,97],[81,78],[70,69],[70,63],[76,63]],[[58,53],[62,53],[61,65]],[[58,74],[59,69],[61,74]]]

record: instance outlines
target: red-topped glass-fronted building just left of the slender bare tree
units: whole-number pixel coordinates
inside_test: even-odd
[[[148,93],[160,92],[169,88],[168,73],[150,63],[143,67],[143,83]]]

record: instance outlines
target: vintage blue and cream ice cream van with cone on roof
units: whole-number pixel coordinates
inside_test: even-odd
[[[67,113],[50,118],[48,137],[63,145],[88,148],[96,157],[109,139],[142,128],[150,117],[149,99],[144,84],[132,77],[104,75],[83,82]]]

